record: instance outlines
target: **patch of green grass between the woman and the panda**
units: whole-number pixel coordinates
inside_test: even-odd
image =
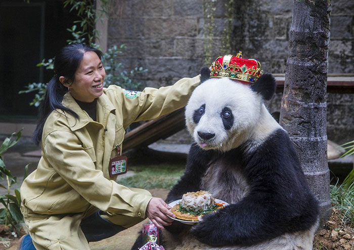
[[[184,169],[185,164],[137,165],[129,169],[135,172],[134,175],[118,178],[117,182],[127,187],[171,189],[182,176]]]

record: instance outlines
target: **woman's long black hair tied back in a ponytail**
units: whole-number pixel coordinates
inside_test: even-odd
[[[103,54],[99,49],[90,47],[84,43],[71,43],[66,45],[55,57],[55,75],[47,84],[46,95],[39,110],[39,120],[33,132],[33,139],[36,145],[39,145],[40,143],[43,126],[53,110],[60,109],[71,113],[77,119],[79,118],[74,111],[62,105],[63,96],[68,91],[68,88],[59,81],[59,77],[64,76],[66,81],[73,82],[75,72],[82,61],[83,54],[89,51],[95,52],[102,60]]]

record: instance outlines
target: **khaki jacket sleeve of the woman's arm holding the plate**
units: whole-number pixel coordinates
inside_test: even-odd
[[[71,131],[58,129],[46,136],[43,154],[65,182],[90,204],[105,212],[145,218],[152,197],[106,179]]]

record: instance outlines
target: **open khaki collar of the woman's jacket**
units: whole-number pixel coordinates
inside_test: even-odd
[[[72,131],[78,130],[90,122],[94,122],[92,118],[80,108],[70,93],[67,92],[64,94],[62,104],[64,107],[71,109],[79,116],[79,119],[77,119],[72,114],[65,112],[66,118]],[[114,110],[115,108],[109,101],[109,98],[106,94],[103,93],[100,97],[98,97],[97,121],[99,123],[106,124],[108,114]]]

